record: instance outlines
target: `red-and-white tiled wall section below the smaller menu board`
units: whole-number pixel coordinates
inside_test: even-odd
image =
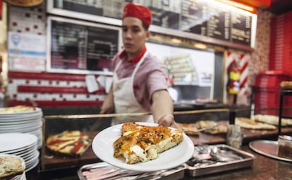
[[[88,93],[85,75],[8,72],[8,105],[18,103],[47,106],[99,106],[105,91]]]

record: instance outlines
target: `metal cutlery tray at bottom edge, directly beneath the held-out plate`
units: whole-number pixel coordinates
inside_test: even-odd
[[[78,169],[78,177],[80,180],[90,179],[90,175],[95,177],[96,180],[102,179],[183,179],[185,165],[180,165],[173,169],[165,169],[157,172],[136,172],[128,169],[121,169],[109,165],[107,162],[98,162],[95,164],[84,165]]]

